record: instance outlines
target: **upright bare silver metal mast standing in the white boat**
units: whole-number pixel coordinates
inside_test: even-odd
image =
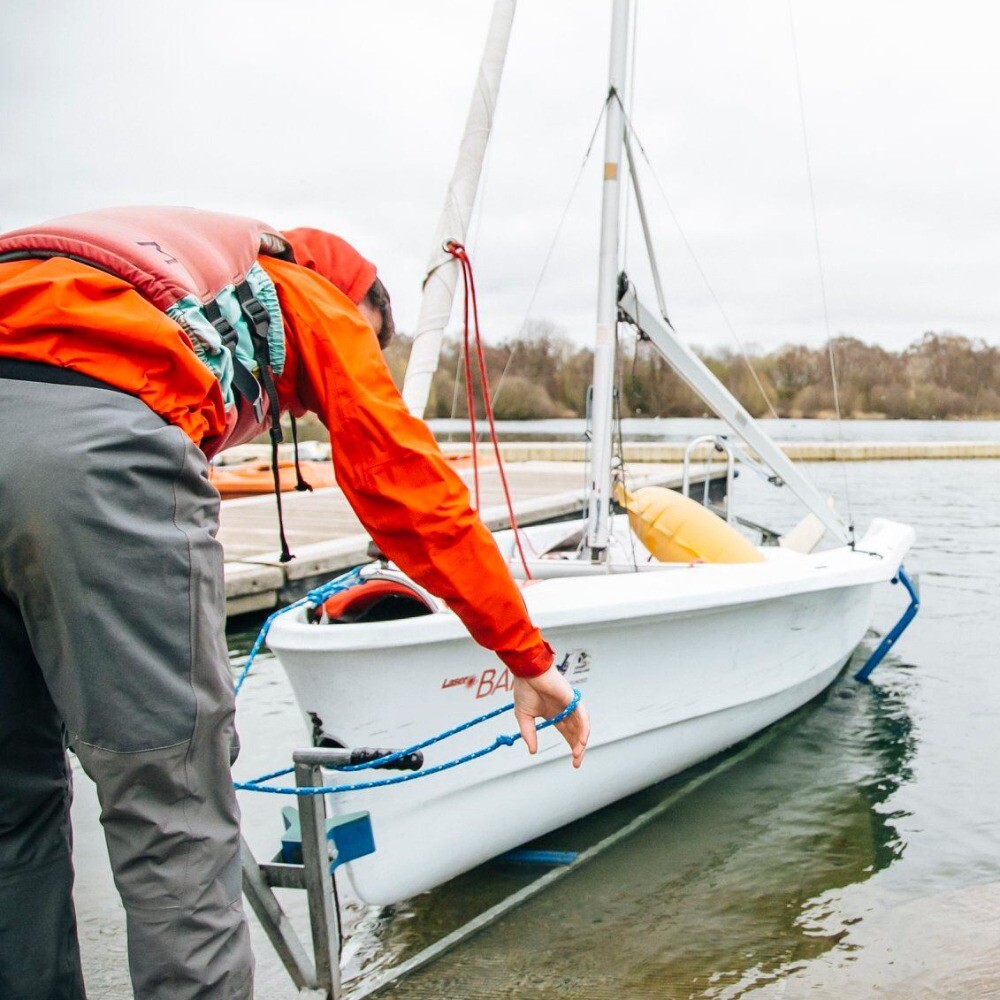
[[[597,336],[594,344],[593,444],[587,512],[587,545],[594,560],[600,559],[608,547],[611,512],[611,431],[618,326],[618,226],[621,153],[625,134],[622,102],[628,62],[628,13],[629,0],[614,0],[604,132],[604,188],[601,196]]]

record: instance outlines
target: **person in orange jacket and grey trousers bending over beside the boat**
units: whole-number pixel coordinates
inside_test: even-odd
[[[515,675],[572,694],[379,347],[374,266],[315,229],[111,209],[0,236],[0,996],[84,994],[72,745],[94,780],[140,1000],[243,1000],[237,738],[209,459],[318,414],[379,548]],[[414,707],[419,713],[419,707]],[[559,729],[573,763],[589,723]]]

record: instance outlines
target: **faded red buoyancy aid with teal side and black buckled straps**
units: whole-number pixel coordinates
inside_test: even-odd
[[[0,236],[0,262],[68,257],[127,281],[187,335],[219,382],[230,426],[242,399],[280,439],[274,378],[284,332],[259,254],[294,260],[277,229],[193,208],[102,209]]]

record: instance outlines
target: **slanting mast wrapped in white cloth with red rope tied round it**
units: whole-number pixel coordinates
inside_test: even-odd
[[[417,417],[422,417],[427,407],[431,379],[437,370],[438,355],[441,353],[441,338],[451,316],[455,286],[458,283],[458,262],[445,253],[443,244],[447,240],[465,242],[472,206],[479,188],[486,144],[493,126],[493,113],[516,6],[517,0],[496,0],[493,5],[493,16],[479,64],[479,76],[465,120],[465,133],[427,262],[420,316],[403,381],[403,401],[410,413]]]

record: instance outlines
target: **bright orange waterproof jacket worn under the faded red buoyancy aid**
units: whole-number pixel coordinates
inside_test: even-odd
[[[337,481],[383,552],[445,600],[512,673],[553,660],[465,484],[411,417],[371,327],[319,274],[260,257],[278,291],[282,409],[316,413]],[[209,453],[227,433],[222,394],[183,331],[127,282],[66,258],[0,264],[0,357],[73,368],[124,389]]]

